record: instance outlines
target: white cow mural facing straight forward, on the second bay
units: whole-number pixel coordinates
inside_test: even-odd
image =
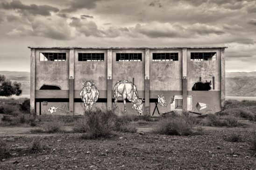
[[[80,92],[80,97],[85,104],[85,112],[91,111],[92,106],[97,102],[100,93],[93,81],[84,81],[82,85],[84,85],[84,88]]]

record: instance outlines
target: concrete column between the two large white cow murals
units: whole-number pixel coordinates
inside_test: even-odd
[[[112,49],[107,49],[107,109],[112,109]]]

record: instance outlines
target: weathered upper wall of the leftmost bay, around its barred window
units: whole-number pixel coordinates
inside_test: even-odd
[[[66,61],[40,61],[39,53],[66,53]],[[36,90],[43,84],[58,85],[69,89],[69,50],[36,49]]]

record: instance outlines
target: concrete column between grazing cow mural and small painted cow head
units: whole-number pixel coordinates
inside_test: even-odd
[[[145,114],[150,115],[150,107],[149,107],[149,65],[150,65],[150,55],[149,48],[145,49],[145,82],[144,82],[144,90],[145,90]]]

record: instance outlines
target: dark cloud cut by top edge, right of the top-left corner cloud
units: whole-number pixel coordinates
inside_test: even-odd
[[[62,10],[62,12],[70,13],[75,12],[78,9],[86,8],[86,9],[92,9],[96,7],[96,2],[100,0],[75,0],[70,1],[70,7],[65,8]]]

